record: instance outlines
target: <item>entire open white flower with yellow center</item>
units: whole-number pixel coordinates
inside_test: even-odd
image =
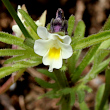
[[[54,68],[60,69],[62,59],[69,58],[73,53],[70,46],[71,38],[68,35],[49,33],[45,27],[38,27],[37,33],[41,39],[35,41],[35,53],[43,56],[43,64],[49,65],[50,72]]]

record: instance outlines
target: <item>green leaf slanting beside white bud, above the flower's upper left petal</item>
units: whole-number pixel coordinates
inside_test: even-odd
[[[37,32],[37,25],[33,21],[33,19],[26,13],[24,10],[19,9],[20,14],[23,16],[23,18],[26,20],[26,23],[35,31]]]

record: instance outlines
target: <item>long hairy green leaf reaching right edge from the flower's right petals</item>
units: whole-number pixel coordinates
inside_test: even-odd
[[[101,43],[108,39],[110,39],[110,31],[104,31],[79,40],[78,42],[72,44],[72,48],[73,50],[83,49],[91,45]]]

